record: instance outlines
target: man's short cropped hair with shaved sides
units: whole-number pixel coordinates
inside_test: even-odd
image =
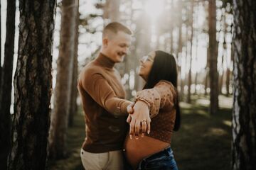
[[[122,23],[112,22],[112,23],[107,24],[107,26],[105,26],[105,28],[103,29],[103,32],[102,32],[102,37],[104,38],[105,35],[107,35],[107,33],[110,33],[110,32],[117,34],[119,31],[122,31],[129,35],[132,35],[132,30],[130,30],[126,26],[122,25]]]

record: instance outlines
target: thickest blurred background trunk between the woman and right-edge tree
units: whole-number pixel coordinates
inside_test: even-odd
[[[210,64],[210,114],[218,111],[218,48],[216,41],[216,1],[209,0],[209,64]]]

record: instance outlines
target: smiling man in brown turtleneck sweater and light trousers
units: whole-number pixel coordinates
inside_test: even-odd
[[[132,31],[129,28],[117,22],[108,24],[102,33],[100,55],[82,69],[78,79],[86,124],[86,138],[80,154],[86,170],[123,169],[122,146],[128,130],[127,106],[132,102],[124,100],[124,87],[114,64],[124,60],[131,41]],[[139,109],[134,109],[134,113],[149,113],[144,102],[135,108]],[[150,122],[149,116],[142,115],[139,116],[141,119]],[[135,128],[138,131],[140,123]]]

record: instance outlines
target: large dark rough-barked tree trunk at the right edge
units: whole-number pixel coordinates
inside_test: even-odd
[[[256,3],[233,0],[234,103],[232,169],[256,169]]]

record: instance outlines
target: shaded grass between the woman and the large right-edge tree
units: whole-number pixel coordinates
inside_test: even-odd
[[[216,115],[208,113],[204,100],[181,103],[181,129],[171,142],[180,170],[230,169],[232,100],[220,97],[222,108]]]

